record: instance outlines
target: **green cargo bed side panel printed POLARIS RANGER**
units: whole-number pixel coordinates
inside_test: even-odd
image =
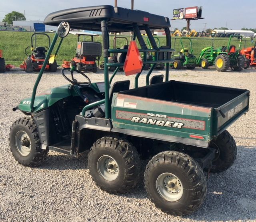
[[[114,93],[113,127],[210,141],[212,108]]]

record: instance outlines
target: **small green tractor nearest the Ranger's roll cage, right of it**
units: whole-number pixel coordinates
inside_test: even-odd
[[[183,40],[189,40],[190,41],[190,51],[188,48],[184,48]],[[194,69],[196,64],[196,56],[194,56],[193,50],[192,50],[192,41],[190,38],[182,37],[180,38],[180,44],[182,46],[182,50],[180,51],[180,54],[173,55],[174,62],[170,65],[174,69],[181,69],[182,67],[187,67],[188,69]]]

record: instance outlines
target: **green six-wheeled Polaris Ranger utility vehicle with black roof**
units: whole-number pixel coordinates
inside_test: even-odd
[[[105,5],[53,12],[44,24],[58,26],[58,31],[32,97],[13,108],[26,115],[10,129],[10,149],[16,161],[37,166],[49,150],[75,157],[89,151],[88,168],[94,182],[117,194],[136,186],[140,159],[150,158],[144,183],[156,207],[173,215],[197,210],[206,197],[203,170],[222,172],[236,159],[236,143],[225,129],[248,111],[249,91],[169,80],[174,50],[170,21],[163,16]],[[75,67],[65,68],[62,75],[68,85],[36,95],[58,37],[61,44],[70,28],[102,32],[104,81],[92,83]],[[164,30],[165,46],[157,46],[152,29]],[[152,49],[146,47],[140,30],[146,30]],[[140,47],[131,41],[128,49],[110,49],[109,32],[133,32]],[[90,52],[94,47],[98,50],[95,45],[87,46]],[[154,52],[156,59],[147,61],[147,52]],[[118,54],[118,62],[108,61],[110,53]],[[140,53],[145,55],[143,61]],[[141,65],[140,71],[135,63]],[[166,63],[165,81],[158,76],[150,81],[157,63]],[[138,87],[146,64],[152,64],[146,85]],[[110,66],[116,69],[109,79]],[[124,67],[126,74],[136,74],[134,88],[128,79],[114,82],[119,67]],[[77,80],[78,74],[84,81]]]

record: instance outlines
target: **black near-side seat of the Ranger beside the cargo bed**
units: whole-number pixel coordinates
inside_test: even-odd
[[[120,91],[128,90],[129,87],[130,87],[130,80],[115,82],[109,90],[110,104],[112,102],[112,98],[113,98],[114,93],[118,93]],[[80,115],[81,115],[81,113],[80,113]],[[105,104],[101,104],[101,105],[95,107],[94,109],[90,109],[90,110],[87,110],[85,112],[85,117],[86,118],[91,118],[91,117],[102,118],[104,116],[105,116]]]

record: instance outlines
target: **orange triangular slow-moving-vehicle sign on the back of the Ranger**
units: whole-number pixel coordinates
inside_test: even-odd
[[[132,75],[140,73],[142,69],[142,59],[138,50],[136,41],[130,41],[127,55],[124,61],[124,73],[125,75]]]

